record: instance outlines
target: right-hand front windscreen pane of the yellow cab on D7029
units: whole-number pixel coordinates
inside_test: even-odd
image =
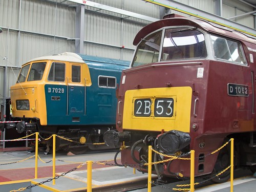
[[[42,79],[46,68],[46,62],[34,62],[32,63],[28,81],[37,81]]]

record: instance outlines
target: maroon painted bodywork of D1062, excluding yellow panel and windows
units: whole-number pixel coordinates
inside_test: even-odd
[[[208,50],[208,57],[206,59],[155,62],[154,66],[152,66],[152,63],[148,63],[143,65],[143,67],[139,66],[124,70],[122,76],[126,76],[125,84],[122,85],[122,83],[120,83],[118,93],[118,101],[121,101],[119,111],[123,111],[126,90],[162,88],[166,87],[167,82],[170,82],[172,87],[191,87],[193,95],[191,98],[189,134],[191,137],[190,150],[195,150],[196,152],[195,175],[210,174],[214,169],[218,153],[205,156],[203,160],[199,160],[198,157],[200,154],[207,155],[215,151],[225,142],[225,138],[235,138],[235,142],[239,143],[243,141],[243,137],[249,138],[249,132],[256,131],[256,117],[254,114],[256,111],[256,72],[254,63],[251,62],[252,60],[250,59],[250,54],[252,54],[253,60],[256,60],[256,40],[240,32],[215,27],[203,20],[167,18],[141,29],[134,39],[134,45],[138,45],[140,40],[145,38],[148,34],[167,26],[197,27],[208,33],[239,41],[244,50],[247,66],[233,65],[230,62],[213,59],[214,57],[209,57],[211,53],[210,50]],[[172,65],[163,66],[162,64],[164,63],[171,63]],[[181,65],[180,63],[183,64]],[[203,78],[197,78],[197,70],[199,67],[204,68]],[[227,93],[228,83],[247,85],[249,88],[249,96],[229,96]],[[253,90],[254,93],[252,93]],[[197,98],[197,116],[194,116],[194,104]],[[253,103],[254,106],[252,106]],[[117,122],[122,122],[123,118],[125,118],[122,114],[123,113],[117,114]],[[197,123],[197,129],[193,129],[194,123]],[[117,129],[119,132],[123,132],[120,123],[117,123]],[[125,129],[129,129],[129,127],[125,127]],[[133,132],[131,138],[131,143],[133,143],[136,141],[136,139],[133,139],[133,136],[137,133],[134,130],[131,132]],[[141,133],[143,130],[140,130],[140,127],[138,127],[138,132]],[[146,134],[148,133],[144,133],[144,135]],[[248,140],[248,143],[249,142]],[[204,143],[205,146],[200,148],[200,143]],[[130,148],[122,151],[123,164],[135,163],[131,158],[130,151]],[[239,150],[236,156],[239,156]],[[242,159],[242,157],[236,157],[236,160],[241,162],[241,165],[245,165],[248,161],[247,159]],[[254,160],[252,160],[253,162],[251,163],[256,163],[256,159]],[[203,164],[203,166],[200,164]],[[236,164],[239,165],[237,162]],[[203,168],[199,168],[199,166]],[[146,172],[146,168],[143,169],[143,171]],[[182,173],[185,177],[189,177],[190,162],[175,160],[172,162],[170,171],[173,173]],[[170,174],[168,174],[166,170],[163,170],[163,175]]]

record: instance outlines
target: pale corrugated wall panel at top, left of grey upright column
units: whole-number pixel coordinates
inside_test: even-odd
[[[38,0],[21,0],[20,30],[72,37],[75,9]]]

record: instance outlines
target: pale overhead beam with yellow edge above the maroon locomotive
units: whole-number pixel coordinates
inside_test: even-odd
[[[216,24],[231,28],[233,30],[247,33],[252,36],[256,36],[256,30],[253,28],[241,25],[239,23],[233,22],[232,20],[202,11],[200,9],[192,8],[190,6],[187,6],[185,4],[182,4],[176,1],[172,1],[172,0],[142,0],[142,1],[156,4],[162,7],[170,8],[194,17],[207,20],[208,22],[216,23]]]

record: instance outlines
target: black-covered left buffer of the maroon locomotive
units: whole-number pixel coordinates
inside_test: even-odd
[[[106,145],[117,148],[120,142],[130,141],[131,134],[129,132],[119,133],[114,130],[110,130],[104,133],[103,140]]]

